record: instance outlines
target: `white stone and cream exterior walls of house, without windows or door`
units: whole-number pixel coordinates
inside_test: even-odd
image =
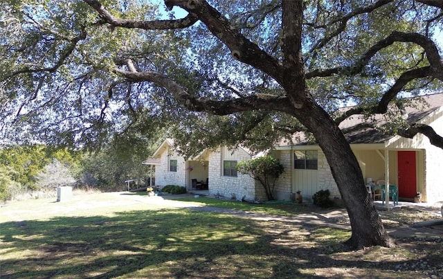
[[[443,134],[442,116],[443,109],[440,109],[440,111],[426,117],[422,123],[431,125],[437,134]],[[417,191],[422,192],[424,201],[443,201],[443,180],[440,175],[443,170],[443,150],[431,145],[426,136],[417,134],[412,139],[395,136],[386,143],[352,145],[351,147],[359,161],[364,179],[368,179],[368,177],[374,181],[385,179],[385,161],[388,159],[389,182],[395,185],[398,183],[397,152],[400,150],[415,151],[417,154]],[[295,170],[294,150],[317,150],[318,169]],[[168,184],[189,186],[192,178],[204,180],[207,168],[210,196],[225,199],[235,198],[237,200],[242,199],[242,197],[248,200],[266,199],[264,189],[260,183],[254,181],[247,174],[237,173],[237,177],[225,177],[223,174],[224,160],[239,162],[251,159],[251,154],[242,147],[235,149],[220,147],[217,150],[207,150],[202,158],[194,161],[194,163],[203,163],[204,165],[202,173],[198,175],[197,172],[188,174],[188,165],[192,164],[186,162],[182,156],[171,150],[170,145],[163,143],[156,153],[157,158],[161,158],[161,165],[156,166],[157,186]],[[325,154],[318,145],[280,147],[278,150],[271,152],[271,155],[279,159],[280,163],[284,165],[284,173],[275,184],[275,199],[289,200],[293,198],[293,194],[297,190],[302,191],[303,201],[308,203],[312,202],[312,195],[319,190],[329,190],[332,199],[341,198]],[[170,172],[171,159],[177,160],[177,172]]]

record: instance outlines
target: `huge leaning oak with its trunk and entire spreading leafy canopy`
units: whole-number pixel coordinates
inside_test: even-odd
[[[97,147],[138,123],[168,127],[192,155],[304,129],[341,192],[348,243],[391,246],[338,123],[442,88],[442,2],[164,3],[186,16],[141,1],[4,1],[3,138]]]

